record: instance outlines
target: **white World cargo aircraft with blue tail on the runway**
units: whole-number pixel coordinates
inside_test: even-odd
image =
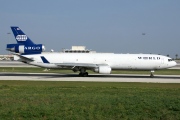
[[[170,57],[155,54],[41,53],[45,49],[42,44],[34,44],[19,27],[11,29],[18,44],[7,45],[7,50],[16,52],[16,60],[38,67],[71,69],[79,71],[79,76],[88,76],[86,70],[101,74],[110,74],[112,70],[149,70],[153,77],[154,70],[176,66]]]

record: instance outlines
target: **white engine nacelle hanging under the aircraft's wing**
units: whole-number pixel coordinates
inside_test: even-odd
[[[94,69],[94,72],[101,73],[101,74],[111,74],[111,67],[110,66],[99,66],[98,68]]]

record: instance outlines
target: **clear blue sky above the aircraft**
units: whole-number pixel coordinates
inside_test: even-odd
[[[82,45],[97,52],[180,56],[180,0],[0,0],[0,54],[16,43],[10,26],[44,44],[46,52]]]

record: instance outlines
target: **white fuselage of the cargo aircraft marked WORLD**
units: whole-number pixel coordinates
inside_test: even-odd
[[[60,68],[58,63],[107,64],[111,69],[135,70],[165,69],[176,65],[175,61],[168,61],[171,58],[155,54],[43,53],[23,56],[35,60],[29,64],[45,68]],[[50,63],[43,63],[41,56]]]

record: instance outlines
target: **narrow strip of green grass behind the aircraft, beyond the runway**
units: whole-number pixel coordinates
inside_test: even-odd
[[[0,72],[33,72],[33,73],[74,73],[72,70],[58,70],[58,69],[50,69],[49,71],[44,71],[44,68],[36,68],[36,67],[0,67]],[[90,74],[96,74],[92,71],[88,71]],[[112,74],[150,74],[150,71],[142,71],[142,70],[113,70]],[[163,69],[156,70],[155,75],[180,75],[180,69]]]

